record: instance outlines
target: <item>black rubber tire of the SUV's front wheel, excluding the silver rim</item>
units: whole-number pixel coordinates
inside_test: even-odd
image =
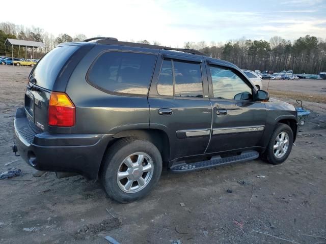
[[[281,158],[277,158],[274,154],[274,144],[276,142],[277,136],[282,132],[286,132],[288,134],[289,145],[285,155],[283,155]],[[268,146],[262,158],[270,164],[281,164],[289,157],[291,153],[292,145],[293,145],[293,132],[291,128],[286,124],[278,123],[275,127],[274,133],[270,137]]]

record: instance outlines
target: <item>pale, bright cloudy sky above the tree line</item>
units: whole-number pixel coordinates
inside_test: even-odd
[[[0,22],[33,25],[55,36],[85,34],[174,47],[187,41],[225,43],[242,37],[326,39],[326,0],[33,0],[33,5],[16,0],[14,5],[20,6],[14,8],[15,14],[0,11]]]

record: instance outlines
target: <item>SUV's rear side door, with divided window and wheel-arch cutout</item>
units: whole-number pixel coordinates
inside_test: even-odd
[[[148,96],[150,128],[164,130],[170,160],[203,154],[211,131],[211,104],[201,56],[159,55]]]

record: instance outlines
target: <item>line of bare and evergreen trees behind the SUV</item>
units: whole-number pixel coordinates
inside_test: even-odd
[[[44,53],[55,48],[58,44],[71,41],[83,41],[87,39],[84,34],[74,37],[68,34],[60,34],[57,37],[45,32],[38,27],[25,27],[10,22],[0,23],[0,55],[5,55],[5,41],[7,38],[43,42],[46,49]],[[134,40],[130,40],[135,42]],[[150,44],[147,40],[136,41]],[[159,42],[151,42],[160,45]],[[275,36],[269,42],[264,40],[239,40],[227,43],[205,41],[185,42],[184,48],[197,49],[208,56],[227,60],[241,69],[270,70],[274,72],[293,70],[294,73],[318,74],[326,71],[326,39],[313,36],[300,37],[293,43],[282,37]],[[11,47],[7,47],[7,53],[11,53]],[[18,47],[14,47],[14,55],[17,56]]]

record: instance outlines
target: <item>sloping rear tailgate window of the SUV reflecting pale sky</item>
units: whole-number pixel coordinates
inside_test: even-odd
[[[32,73],[36,84],[51,90],[61,68],[78,48],[79,46],[56,47],[42,57]]]

